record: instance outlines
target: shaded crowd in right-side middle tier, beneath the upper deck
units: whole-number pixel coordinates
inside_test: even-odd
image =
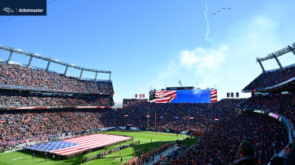
[[[279,113],[295,123],[295,94],[252,96],[240,107]]]

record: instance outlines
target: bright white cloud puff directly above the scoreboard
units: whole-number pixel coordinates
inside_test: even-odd
[[[183,85],[187,86],[214,87],[218,83],[215,73],[225,62],[227,52],[228,45],[221,45],[217,50],[199,47],[181,51],[159,71],[157,78],[148,82],[148,85],[152,89],[162,89],[166,86],[177,86],[178,80],[181,80]]]

